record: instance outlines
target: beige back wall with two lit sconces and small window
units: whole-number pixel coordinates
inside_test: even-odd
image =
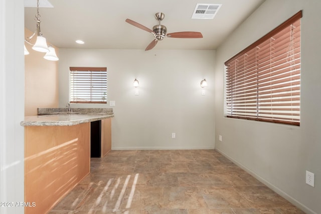
[[[112,149],[214,148],[215,51],[60,49],[59,106],[69,102],[70,66],[107,67]],[[133,81],[139,81],[135,96]],[[206,95],[200,82],[206,78]],[[172,132],[176,138],[172,138]]]

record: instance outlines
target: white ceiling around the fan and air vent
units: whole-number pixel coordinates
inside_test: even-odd
[[[35,6],[37,0],[33,1]],[[48,0],[40,0],[48,2]],[[168,33],[197,31],[202,39],[165,38],[154,49],[215,50],[264,0],[49,0],[54,8],[40,8],[41,32],[58,48],[145,49],[152,34],[136,28],[128,18],[152,29],[154,14],[162,12]],[[198,3],[222,4],[213,20],[192,20]],[[27,3],[26,3],[27,4]],[[30,3],[28,3],[30,4]],[[36,8],[25,8],[25,27],[36,29]],[[30,35],[26,35],[30,36]],[[79,45],[75,40],[83,40]]]

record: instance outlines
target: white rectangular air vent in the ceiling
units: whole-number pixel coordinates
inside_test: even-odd
[[[221,6],[219,4],[197,4],[192,19],[214,19]]]

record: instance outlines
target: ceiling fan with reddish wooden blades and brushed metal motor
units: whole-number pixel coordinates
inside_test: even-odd
[[[203,35],[200,32],[193,32],[193,31],[185,31],[185,32],[176,32],[176,33],[170,33],[167,34],[167,28],[164,25],[161,25],[161,21],[164,19],[165,14],[163,13],[156,13],[155,19],[158,20],[158,25],[155,25],[152,30],[136,23],[135,21],[132,21],[130,19],[126,19],[126,22],[130,25],[133,25],[137,28],[140,28],[144,31],[147,31],[149,33],[152,33],[154,36],[154,40],[149,43],[149,45],[146,47],[145,51],[148,51],[155,47],[158,41],[163,40],[165,37],[169,38],[203,38]]]

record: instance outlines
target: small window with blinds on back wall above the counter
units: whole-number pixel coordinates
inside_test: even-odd
[[[107,103],[107,68],[70,67],[70,103]]]

